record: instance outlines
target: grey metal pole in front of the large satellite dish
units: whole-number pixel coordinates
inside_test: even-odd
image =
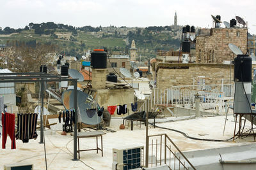
[[[77,160],[77,80],[74,83],[74,110],[75,110],[75,124],[74,124],[74,159]]]

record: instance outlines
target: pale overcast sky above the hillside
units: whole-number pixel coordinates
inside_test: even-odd
[[[178,25],[212,27],[211,15],[230,21],[238,15],[256,34],[255,0],[0,0],[0,27],[24,28],[30,22],[76,27],[148,27]],[[221,24],[224,27],[223,24]]]

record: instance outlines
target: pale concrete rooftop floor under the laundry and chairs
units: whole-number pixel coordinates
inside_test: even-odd
[[[175,120],[177,118],[164,118],[159,119],[156,125],[161,127],[168,127],[171,129],[177,129],[185,132],[189,136],[205,139],[228,139],[232,138],[234,134],[234,117],[228,115],[228,120],[225,129],[225,135],[223,136],[223,126],[225,123],[225,116],[217,117],[200,117],[191,118],[188,120],[177,120],[175,122],[165,122],[168,120]],[[164,121],[163,121],[164,120]],[[57,119],[52,122],[57,122]],[[50,122],[51,123],[51,122]],[[47,153],[47,167],[48,169],[111,169],[113,158],[112,149],[115,147],[122,147],[125,145],[144,145],[145,146],[145,126],[136,126],[134,122],[134,131],[131,131],[131,127],[124,130],[119,129],[119,125],[122,124],[122,119],[111,119],[111,125],[109,129],[113,129],[116,132],[106,132],[103,136],[103,153],[96,153],[95,150],[81,152],[81,161],[72,161],[73,158],[73,136],[68,134],[67,136],[61,136],[61,124],[57,124],[52,127],[54,130],[45,131],[45,146]],[[246,121],[244,127],[250,129],[250,122]],[[165,129],[159,129],[149,126],[148,133],[161,134],[166,133],[174,141],[174,143],[180,148],[182,152],[193,150],[205,150],[209,148],[221,148],[225,146],[237,146],[254,143],[252,136],[244,139],[236,139],[236,142],[212,142],[212,141],[198,141],[188,139],[182,134],[168,131]],[[93,131],[93,130],[92,130]],[[39,144],[40,132],[38,132],[38,138],[36,140],[30,139],[29,143],[22,143],[20,140],[16,140],[16,150],[11,150],[11,141],[8,137],[6,142],[6,149],[0,149],[0,169],[3,169],[4,164],[14,164],[16,162],[28,162],[34,164],[34,169],[45,169],[45,155],[44,144]],[[204,135],[204,136],[200,136]],[[1,139],[2,140],[2,139]],[[80,141],[80,148],[88,149],[95,148],[95,138],[83,138]],[[78,155],[77,155],[78,158]]]

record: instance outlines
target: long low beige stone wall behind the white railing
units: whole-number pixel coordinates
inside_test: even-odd
[[[252,76],[253,76],[252,65]],[[157,66],[157,88],[166,89],[173,85],[193,85],[198,76],[205,76],[205,84],[229,83],[230,64],[176,64],[159,63]],[[231,65],[231,83],[233,83],[234,65]],[[195,79],[196,80],[196,79]],[[195,81],[196,83],[196,81]]]

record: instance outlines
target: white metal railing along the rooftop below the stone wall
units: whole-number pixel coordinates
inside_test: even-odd
[[[234,84],[183,85],[170,89],[152,89],[140,111],[154,111],[155,106],[195,108],[195,94],[200,95],[200,108],[222,112],[227,98],[234,97]]]

